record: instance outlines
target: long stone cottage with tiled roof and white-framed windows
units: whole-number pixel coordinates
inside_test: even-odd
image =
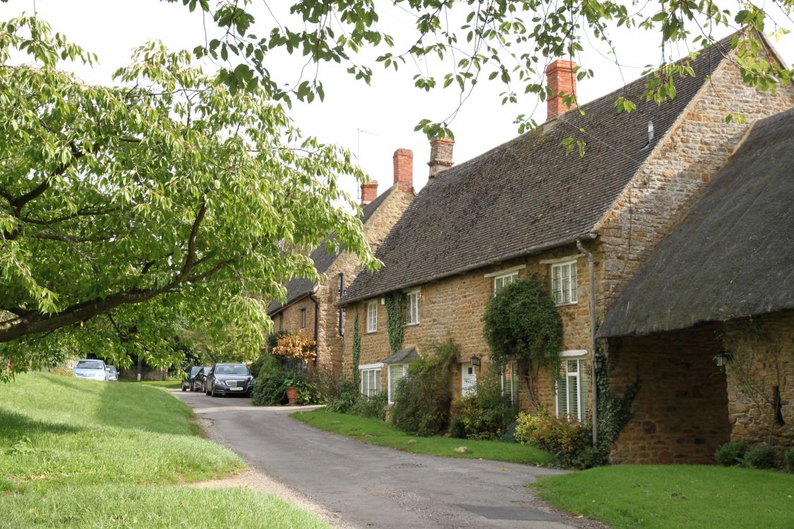
[[[538,380],[534,400],[559,416],[587,418],[596,320],[702,197],[749,124],[794,103],[792,86],[777,94],[745,86],[725,42],[689,61],[695,75],[676,79],[672,101],[646,102],[647,79],[582,105],[584,113],[549,98],[548,121],[534,131],[443,171],[431,166],[427,186],[376,253],[384,266],[359,274],[341,300],[360,316],[362,393],[386,389],[391,401],[410,358],[447,335],[462,355],[453,392],[476,390],[488,365],[484,309],[500,288],[534,274],[564,325],[557,384]],[[767,54],[781,61],[771,47]],[[573,67],[549,65],[549,86],[575,91]],[[616,112],[619,95],[637,109]],[[726,123],[728,112],[744,113],[747,124]],[[584,157],[565,154],[569,136],[586,142]],[[407,321],[403,347],[392,355],[384,305],[395,292],[407,298]],[[346,320],[348,335],[353,321]],[[352,347],[348,340],[345,373]],[[523,376],[507,366],[503,385],[526,408]]]

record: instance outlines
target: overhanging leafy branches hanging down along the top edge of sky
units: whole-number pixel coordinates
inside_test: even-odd
[[[557,57],[576,58],[595,41],[620,64],[621,52],[630,43],[615,42],[611,33],[621,26],[660,44],[658,56],[649,58],[646,67],[653,74],[646,97],[657,102],[675,96],[676,77],[693,74],[687,64],[675,61],[713,44],[715,34],[726,29],[740,33],[730,42],[730,59],[748,85],[773,90],[779,82],[790,82],[794,73],[791,65],[767,60],[769,50],[759,36],[764,33],[775,40],[787,33],[780,22],[794,25],[794,0],[291,0],[286,5],[267,0],[163,1],[182,3],[211,17],[205,21],[210,28],[206,42],[197,43],[193,51],[218,61],[219,79],[232,90],[261,86],[285,102],[324,97],[323,63],[341,64],[364,82],[375,75],[376,63],[387,69],[407,68],[419,89],[451,87],[460,91],[461,103],[484,79],[503,84],[503,103],[518,102],[522,94],[537,101],[552,95],[545,66]],[[401,32],[402,39],[387,33],[382,23],[395,15],[413,21],[410,31]],[[303,56],[297,81],[268,67],[272,54],[284,50]],[[593,75],[587,64],[581,66],[580,79]],[[575,98],[563,99],[576,104]],[[623,98],[615,105],[618,111],[635,106]],[[417,129],[429,137],[450,135],[449,121],[457,109],[449,109],[440,120],[422,119]],[[741,118],[730,109],[726,117]],[[536,125],[526,114],[519,114],[516,123],[519,131]]]

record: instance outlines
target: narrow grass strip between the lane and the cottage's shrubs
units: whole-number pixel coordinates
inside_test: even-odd
[[[291,417],[321,430],[347,435],[364,443],[379,447],[396,448],[411,454],[440,455],[447,458],[493,459],[527,465],[549,466],[555,458],[542,450],[516,443],[499,441],[471,441],[468,439],[449,439],[444,437],[419,437],[389,427],[381,420],[326,412],[324,409],[312,412],[296,412]],[[414,440],[416,443],[408,443]],[[467,447],[467,454],[459,454],[457,447]]]

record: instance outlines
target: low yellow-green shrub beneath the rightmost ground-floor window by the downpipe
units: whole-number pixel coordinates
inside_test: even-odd
[[[563,466],[586,469],[599,461],[592,447],[592,427],[548,413],[518,416],[515,438],[557,456]]]

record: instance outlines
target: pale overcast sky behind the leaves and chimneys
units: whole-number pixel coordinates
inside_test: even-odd
[[[200,13],[189,13],[187,8],[165,4],[159,0],[35,0],[39,17],[48,21],[56,31],[95,52],[98,67],[75,68],[82,79],[89,82],[110,83],[112,72],[129,62],[130,50],[150,38],[163,40],[168,48],[190,48],[204,41],[204,28]],[[292,2],[277,0],[272,4],[287,6]],[[21,11],[33,13],[34,0],[10,0],[0,3],[0,19],[15,17]],[[386,17],[381,27],[399,37],[401,29],[410,28],[411,18],[406,13],[386,6]],[[259,27],[254,33],[267,33],[268,13],[259,13],[262,6],[252,8]],[[279,15],[281,16],[281,15]],[[210,38],[213,36],[211,20],[207,20]],[[790,23],[789,23],[790,25]],[[794,29],[794,27],[789,27]],[[723,29],[715,37],[730,33]],[[591,39],[592,47],[576,59],[584,67],[595,71],[595,79],[585,79],[578,86],[579,101],[592,101],[622,86],[623,79],[637,79],[642,68],[658,63],[659,37],[639,29],[618,30],[612,33],[622,67],[607,56],[603,44]],[[794,36],[787,35],[776,44],[784,60],[794,61]],[[677,59],[686,50],[674,52]],[[295,57],[276,58],[268,63],[273,73],[292,79],[301,63]],[[457,107],[459,92],[452,88],[434,90],[430,94],[414,87],[415,70],[409,67],[394,73],[382,71],[374,65],[375,76],[371,86],[356,81],[343,68],[330,65],[319,71],[326,89],[325,102],[310,105],[296,104],[291,112],[306,134],[318,136],[360,155],[360,166],[373,179],[380,182],[379,193],[391,186],[391,155],[397,148],[414,151],[414,186],[421,188],[427,181],[426,162],[430,148],[414,125],[422,118],[442,120]],[[440,77],[440,75],[439,75]],[[499,94],[503,86],[494,82],[480,82],[474,94],[464,103],[451,123],[455,134],[455,161],[460,163],[518,135],[513,123],[519,113],[534,113],[538,122],[545,121],[545,103],[537,98],[525,97],[519,105],[501,105]],[[356,193],[355,182],[346,182],[345,188]],[[355,195],[353,195],[355,196]]]

